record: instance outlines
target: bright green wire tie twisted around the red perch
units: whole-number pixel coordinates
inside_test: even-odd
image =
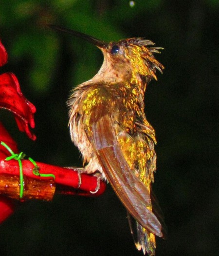
[[[23,152],[20,152],[19,154],[15,154],[12,151],[12,149],[6,143],[4,143],[3,141],[1,141],[0,144],[2,146],[4,146],[11,153],[10,157],[5,158],[6,161],[9,161],[11,159],[15,159],[15,160],[18,161],[18,164],[19,164],[19,175],[20,175],[20,198],[22,198],[23,197],[23,190],[24,190],[24,180],[23,180],[23,168],[22,168],[21,160],[23,158],[25,158],[26,155]],[[30,162],[32,162],[33,165],[34,165],[34,168],[33,168],[33,174],[34,175],[39,176],[39,177],[53,177],[55,179],[55,175],[54,174],[40,174],[39,173],[39,169],[40,168],[37,165],[37,163],[32,158],[28,158],[28,160]]]

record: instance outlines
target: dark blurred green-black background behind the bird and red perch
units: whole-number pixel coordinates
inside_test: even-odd
[[[218,0],[0,1],[0,39],[14,72],[37,107],[37,141],[1,121],[20,150],[37,161],[81,166],[69,136],[66,100],[90,79],[102,54],[89,43],[45,27],[53,23],[102,40],[146,37],[164,47],[164,74],[146,91],[146,116],[158,144],[154,191],[168,226],[157,256],[218,255]],[[0,225],[0,255],[141,256],[126,211],[110,185],[98,198],[57,195],[28,201]]]

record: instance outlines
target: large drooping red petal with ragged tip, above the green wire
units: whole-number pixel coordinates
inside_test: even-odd
[[[27,100],[20,91],[18,79],[13,73],[0,75],[0,107],[14,113],[18,128],[33,140],[36,136],[30,131],[35,127],[35,106]]]

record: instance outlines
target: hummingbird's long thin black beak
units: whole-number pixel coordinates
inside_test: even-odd
[[[71,34],[73,36],[85,39],[86,41],[91,42],[92,44],[96,45],[97,47],[107,48],[107,45],[108,45],[107,42],[101,41],[101,40],[96,39],[96,38],[92,38],[91,36],[83,34],[81,32],[77,32],[77,31],[67,29],[67,28],[62,28],[62,27],[59,27],[59,26],[56,26],[56,25],[48,25],[48,26],[55,29],[55,30],[63,31],[63,32]]]

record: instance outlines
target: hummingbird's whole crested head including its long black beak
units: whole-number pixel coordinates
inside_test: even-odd
[[[131,83],[147,83],[150,79],[157,79],[155,73],[162,73],[164,66],[154,58],[154,53],[160,53],[160,47],[144,38],[122,39],[118,42],[105,42],[74,30],[55,25],[50,27],[67,32],[73,36],[85,39],[96,45],[104,55],[103,64],[93,79],[106,82],[130,81]]]

